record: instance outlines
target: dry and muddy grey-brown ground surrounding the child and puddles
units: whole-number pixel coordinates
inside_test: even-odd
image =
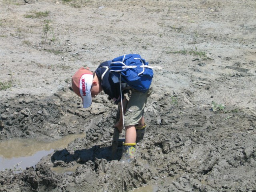
[[[255,20],[255,0],[2,0],[0,141],[86,137],[1,172],[0,191],[255,192]],[[158,66],[134,166],[121,142],[111,157],[117,106],[102,93],[83,109],[70,88],[80,66],[129,53]]]

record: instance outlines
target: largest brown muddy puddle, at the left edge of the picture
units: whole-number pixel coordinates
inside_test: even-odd
[[[32,138],[14,138],[0,142],[0,171],[11,168],[24,170],[35,166],[42,157],[52,153],[55,148],[66,148],[76,138],[86,134],[72,134],[60,140],[45,142]]]

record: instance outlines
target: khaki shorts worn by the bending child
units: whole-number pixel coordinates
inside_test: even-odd
[[[138,90],[132,90],[126,107],[126,112],[124,114],[124,126],[138,125],[138,122],[144,114],[144,108],[151,93],[152,87],[149,88],[146,93]]]

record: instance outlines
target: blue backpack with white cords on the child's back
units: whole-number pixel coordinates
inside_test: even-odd
[[[131,88],[142,92],[149,89],[153,78],[153,67],[148,66],[148,62],[138,54],[128,54],[114,58],[110,66],[104,68],[106,68],[106,71],[110,70],[110,73],[114,75],[112,75],[114,82],[125,82]]]

